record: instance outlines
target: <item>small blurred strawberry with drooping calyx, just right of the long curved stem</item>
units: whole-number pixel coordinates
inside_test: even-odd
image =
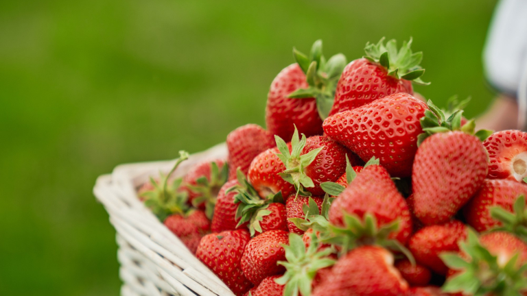
[[[190,203],[205,210],[209,219],[212,219],[216,197],[227,181],[228,171],[229,167],[222,160],[214,160],[196,164],[183,177]]]

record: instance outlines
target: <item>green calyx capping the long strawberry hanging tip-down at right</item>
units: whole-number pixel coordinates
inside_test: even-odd
[[[421,145],[426,138],[438,133],[460,131],[476,136],[481,141],[489,138],[493,133],[491,130],[476,132],[476,122],[473,119],[461,125],[462,114],[463,110],[456,110],[447,118],[443,110],[435,106],[432,100],[428,100],[428,110],[425,110],[425,116],[421,118],[423,133],[417,136],[417,145]]]

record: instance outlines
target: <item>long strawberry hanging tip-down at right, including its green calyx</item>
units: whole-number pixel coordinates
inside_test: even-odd
[[[482,186],[487,151],[480,140],[489,134],[474,134],[473,120],[461,126],[460,110],[445,119],[432,101],[428,106],[412,168],[414,214],[425,225],[449,221]]]

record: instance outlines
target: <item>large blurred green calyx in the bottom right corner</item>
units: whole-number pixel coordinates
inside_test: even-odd
[[[460,242],[460,249],[467,254],[445,252],[440,255],[447,267],[460,271],[447,279],[443,291],[462,292],[464,295],[523,295],[527,289],[527,264],[517,266],[518,254],[508,262],[500,262],[480,244],[478,234],[469,229],[467,240]]]

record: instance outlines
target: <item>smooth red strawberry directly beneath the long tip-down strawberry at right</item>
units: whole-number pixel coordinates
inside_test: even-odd
[[[442,225],[430,225],[421,228],[408,242],[408,249],[419,264],[423,264],[445,275],[448,268],[439,258],[444,251],[458,251],[458,242],[467,237],[467,227],[460,221],[450,221]]]

